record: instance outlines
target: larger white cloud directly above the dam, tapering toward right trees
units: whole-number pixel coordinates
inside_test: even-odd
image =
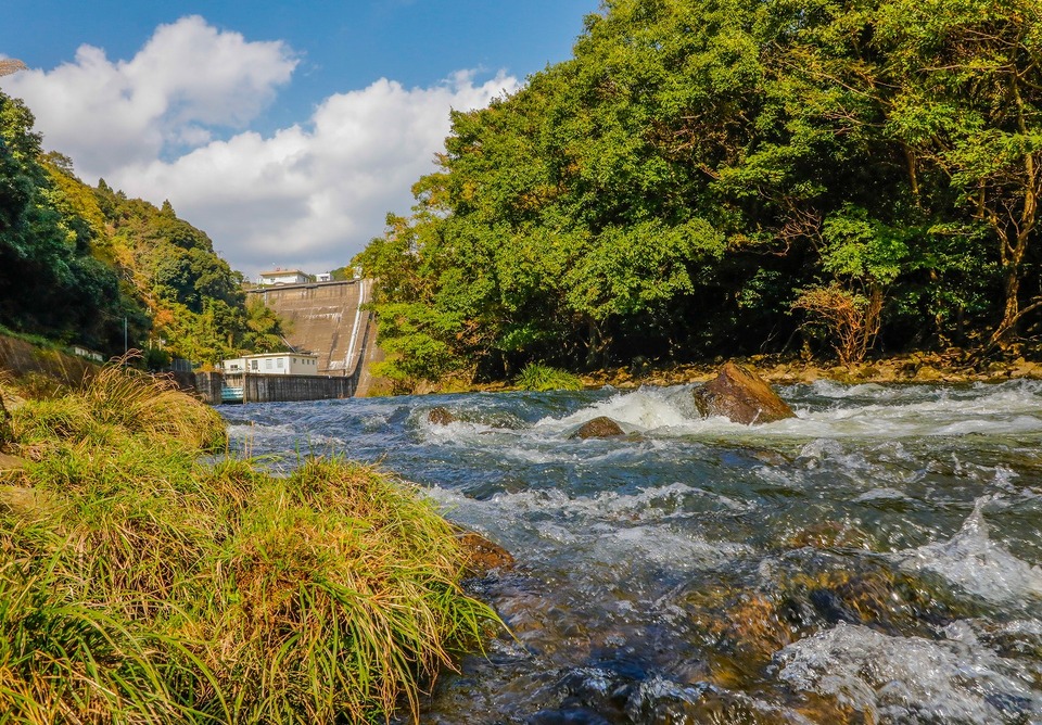
[[[449,110],[483,106],[517,87],[511,77],[479,82],[469,73],[432,88],[381,79],[326,99],[303,125],[129,167],[119,182],[170,199],[251,275],[270,265],[339,267],[382,232],[389,211],[409,208],[410,187],[433,170],[448,133]]]

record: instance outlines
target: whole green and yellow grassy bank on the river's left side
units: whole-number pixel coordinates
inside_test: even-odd
[[[11,400],[26,463],[0,472],[3,722],[415,718],[498,626],[460,589],[449,524],[379,471],[207,462],[219,416],[118,367]]]

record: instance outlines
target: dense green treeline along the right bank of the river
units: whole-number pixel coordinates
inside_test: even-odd
[[[607,0],[439,162],[356,259],[405,389],[1039,349],[1038,0]]]

